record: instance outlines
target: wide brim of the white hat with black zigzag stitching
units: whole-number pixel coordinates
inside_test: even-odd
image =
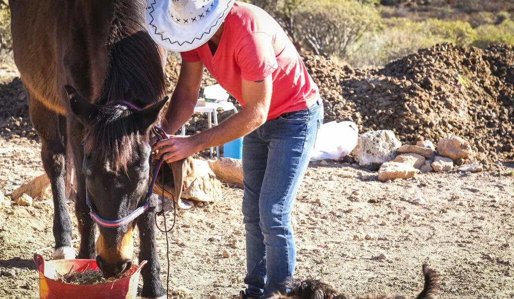
[[[234,4],[234,0],[218,0],[216,8],[202,18],[201,22],[178,24],[168,13],[169,1],[148,1],[146,28],[159,46],[176,52],[190,51],[207,43],[222,25]]]

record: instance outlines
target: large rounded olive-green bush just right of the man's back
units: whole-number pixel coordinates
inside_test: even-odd
[[[318,55],[346,58],[370,32],[381,27],[374,6],[350,0],[313,0],[294,12],[295,31],[303,44]]]

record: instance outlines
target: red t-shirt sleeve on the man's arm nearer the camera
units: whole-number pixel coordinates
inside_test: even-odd
[[[260,81],[278,68],[273,42],[268,34],[252,33],[238,44],[236,61],[243,80]]]

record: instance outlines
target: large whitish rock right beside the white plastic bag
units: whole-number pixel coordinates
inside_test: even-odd
[[[401,142],[393,131],[370,131],[359,136],[357,147],[352,153],[360,166],[369,167],[393,160],[395,150],[400,146]]]

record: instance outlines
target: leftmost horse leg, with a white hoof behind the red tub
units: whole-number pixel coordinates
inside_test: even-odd
[[[54,260],[75,258],[75,250],[71,247],[71,221],[66,208],[66,148],[60,130],[65,125],[65,117],[46,108],[29,92],[27,95],[30,120],[41,140],[43,168],[50,178],[52,188],[53,237],[56,240],[52,257]]]

